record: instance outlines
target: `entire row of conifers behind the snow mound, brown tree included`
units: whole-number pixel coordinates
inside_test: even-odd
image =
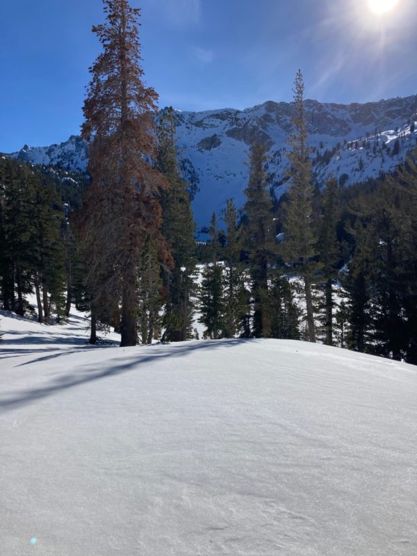
[[[286,195],[273,199],[255,143],[243,211],[230,199],[196,245],[174,113],[156,128],[157,95],[142,83],[139,11],[108,0],[105,12],[83,108],[82,206],[70,214],[68,198],[76,208],[86,183],[0,159],[4,309],[24,315],[34,292],[38,320],[63,322],[74,302],[90,313],[90,343],[112,326],[121,345],[195,338],[198,310],[206,338],[322,341],[417,363],[416,163],[366,185],[313,186],[298,72]]]

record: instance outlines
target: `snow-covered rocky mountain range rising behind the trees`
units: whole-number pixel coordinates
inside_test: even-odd
[[[322,104],[307,100],[306,120],[313,173],[325,183],[330,173],[346,185],[390,172],[416,145],[417,95],[367,104]],[[239,111],[177,111],[179,156],[186,179],[197,194],[195,220],[207,224],[227,199],[243,204],[247,154],[254,140],[268,146],[271,184],[285,190],[286,138],[291,133],[291,103],[268,101]],[[85,170],[88,148],[81,138],[50,147],[25,147],[10,156],[40,164]]]

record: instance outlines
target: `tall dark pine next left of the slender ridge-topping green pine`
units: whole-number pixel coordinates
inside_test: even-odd
[[[256,338],[270,335],[268,306],[268,265],[275,252],[272,200],[265,171],[266,147],[254,143],[250,152],[250,177],[245,189],[245,228],[243,230],[252,281],[254,315],[252,333]]]

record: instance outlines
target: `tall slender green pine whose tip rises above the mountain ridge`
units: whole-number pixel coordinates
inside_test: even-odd
[[[304,81],[300,70],[295,77],[293,104],[293,134],[288,138],[291,186],[284,212],[285,240],[282,244],[286,263],[293,265],[295,272],[304,281],[306,300],[306,323],[309,341],[316,341],[311,284],[316,271],[313,259],[317,255],[316,237],[313,228],[313,186],[311,184],[311,162],[307,144],[306,118],[304,111]]]

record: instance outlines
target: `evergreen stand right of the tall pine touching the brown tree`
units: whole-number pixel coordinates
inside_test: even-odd
[[[213,215],[199,249],[211,261],[206,336],[318,339],[417,363],[416,163],[350,188],[332,178],[313,187],[303,94],[299,72],[286,195],[272,204],[266,149],[253,145],[240,224],[229,201],[226,232]]]

